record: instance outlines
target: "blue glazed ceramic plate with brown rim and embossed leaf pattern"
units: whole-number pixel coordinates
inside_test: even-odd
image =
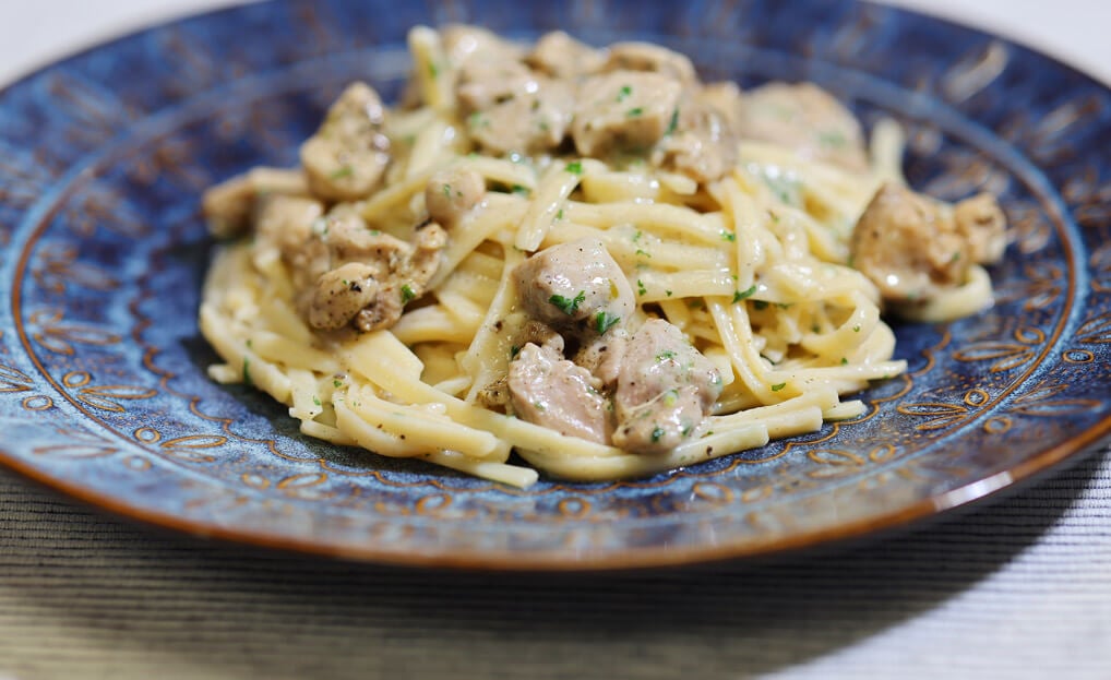
[[[610,568],[769,553],[902,526],[1111,429],[1111,93],[902,11],[790,3],[277,2],[139,33],[0,93],[0,459],[143,521],[383,562]],[[897,327],[910,372],[858,421],[651,479],[507,489],[301,437],[209,381],[198,197],[291,163],[351,79],[396,97],[407,29],[557,27],[690,54],[704,78],[815,80],[909,130],[907,173],[1001,196],[999,300]]]

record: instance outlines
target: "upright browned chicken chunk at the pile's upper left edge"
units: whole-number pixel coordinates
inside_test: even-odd
[[[301,166],[314,196],[353,201],[378,187],[390,162],[384,120],[386,109],[370,86],[356,82],[343,90],[320,130],[301,144]]]

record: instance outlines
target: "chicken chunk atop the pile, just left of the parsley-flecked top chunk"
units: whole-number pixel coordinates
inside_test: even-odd
[[[520,62],[474,59],[457,88],[467,129],[491,153],[536,153],[558,147],[574,114],[574,89]]]

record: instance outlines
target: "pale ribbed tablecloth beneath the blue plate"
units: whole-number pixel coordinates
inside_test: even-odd
[[[0,8],[0,80],[59,51],[13,51],[28,43],[2,19],[36,11],[19,4]],[[1002,22],[1032,36],[1038,6]],[[139,19],[153,16],[144,7]],[[61,17],[69,36],[109,30]],[[1049,38],[1068,58],[1069,41]],[[1111,450],[913,533],[627,574],[387,569],[213,544],[0,471],[0,678],[249,677],[1111,678]]]

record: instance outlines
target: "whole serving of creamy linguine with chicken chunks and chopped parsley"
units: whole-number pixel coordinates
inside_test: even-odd
[[[562,32],[410,48],[399,106],[352,83],[298,168],[204,196],[210,374],[308,436],[519,487],[642,476],[859,416],[841,396],[905,370],[882,310],[991,302],[994,198],[913,192],[893,123],[869,147],[818,86]]]

